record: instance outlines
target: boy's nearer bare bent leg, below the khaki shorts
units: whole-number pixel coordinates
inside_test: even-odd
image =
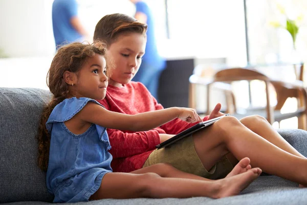
[[[249,157],[252,167],[307,185],[307,159],[290,154],[260,137],[239,120],[226,116],[193,134],[196,153],[209,170],[231,152],[237,159]]]

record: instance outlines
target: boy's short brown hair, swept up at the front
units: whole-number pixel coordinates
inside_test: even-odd
[[[118,35],[123,33],[140,33],[146,35],[147,25],[138,22],[137,19],[114,13],[103,16],[96,25],[94,40],[103,40],[110,46]]]

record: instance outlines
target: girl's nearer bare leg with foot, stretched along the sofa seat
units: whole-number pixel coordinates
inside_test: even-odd
[[[237,195],[245,189],[261,170],[253,168],[245,173],[229,178],[204,181],[184,178],[164,178],[151,171],[151,166],[133,173],[107,173],[101,186],[90,200],[103,198],[186,198],[193,196],[207,196],[221,198]],[[154,170],[153,170],[154,171]]]

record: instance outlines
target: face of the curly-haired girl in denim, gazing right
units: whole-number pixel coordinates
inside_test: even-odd
[[[72,87],[76,97],[103,99],[106,93],[107,76],[106,62],[103,55],[95,54],[84,61],[82,68],[76,74],[77,80]]]

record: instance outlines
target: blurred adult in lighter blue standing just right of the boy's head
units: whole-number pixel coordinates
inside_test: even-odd
[[[155,37],[155,25],[148,5],[142,0],[130,0],[136,6],[135,18],[148,25],[145,55],[139,71],[132,79],[143,83],[151,95],[158,100],[159,78],[165,68],[165,60],[159,55]]]

